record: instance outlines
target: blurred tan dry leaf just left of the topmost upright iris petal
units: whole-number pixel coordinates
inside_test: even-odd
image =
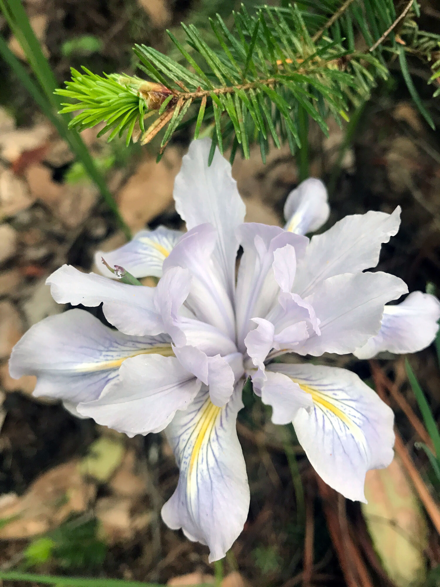
[[[150,154],[118,195],[122,217],[132,231],[141,230],[172,204],[174,178],[181,166],[177,147],[168,147],[159,163]]]

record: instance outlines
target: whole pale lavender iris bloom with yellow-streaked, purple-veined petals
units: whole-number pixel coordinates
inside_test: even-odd
[[[157,286],[63,265],[47,280],[56,302],[102,303],[116,329],[82,309],[50,316],[18,342],[9,369],[37,376],[35,396],[128,436],[164,430],[180,477],[162,517],[215,561],[248,515],[236,434],[246,379],[275,424],[293,423],[321,478],[365,501],[365,473],[393,457],[392,411],[348,370],[273,359],[415,352],[434,339],[440,305],[414,292],[387,306],[407,286],[365,271],[398,231],[400,208],[347,216],[309,241],[304,234],[329,217],[326,189],[310,179],[289,195],[284,230],[243,223],[231,166],[216,150],[208,167],[209,147],[194,141],[175,180],[187,232],[144,230],[106,254],[136,278],[160,278]]]

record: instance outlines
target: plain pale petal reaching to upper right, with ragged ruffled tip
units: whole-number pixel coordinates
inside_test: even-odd
[[[346,216],[310,240],[298,262],[293,291],[303,298],[324,280],[342,273],[359,273],[375,267],[383,242],[397,234],[400,207],[392,214],[370,211]]]

